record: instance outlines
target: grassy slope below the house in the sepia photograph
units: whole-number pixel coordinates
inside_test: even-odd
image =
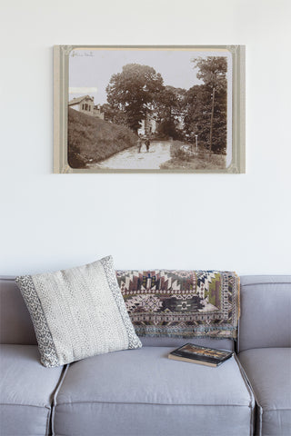
[[[85,168],[135,144],[136,136],[127,127],[69,108],[68,161],[73,168]]]

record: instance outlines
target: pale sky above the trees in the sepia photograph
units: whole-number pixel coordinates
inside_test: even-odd
[[[75,49],[69,56],[69,101],[88,94],[95,104],[107,102],[106,86],[113,74],[121,73],[125,64],[143,64],[155,68],[165,85],[189,89],[202,84],[197,79],[193,59],[198,56],[224,55],[227,51],[166,50],[166,49]],[[228,75],[231,68],[228,67]]]

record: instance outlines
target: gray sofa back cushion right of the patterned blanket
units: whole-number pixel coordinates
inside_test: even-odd
[[[291,346],[291,275],[241,277],[238,351]]]

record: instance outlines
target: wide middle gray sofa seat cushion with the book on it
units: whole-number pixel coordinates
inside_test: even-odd
[[[72,363],[56,396],[55,434],[249,436],[255,400],[236,358],[211,368],[171,361],[172,350],[144,347]]]

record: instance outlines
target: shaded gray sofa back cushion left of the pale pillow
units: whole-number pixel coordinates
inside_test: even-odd
[[[0,343],[37,343],[34,326],[15,277],[0,277]]]

